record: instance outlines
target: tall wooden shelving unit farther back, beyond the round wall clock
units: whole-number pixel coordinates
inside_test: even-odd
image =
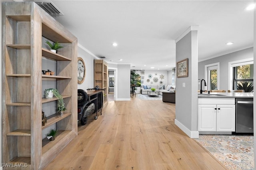
[[[103,59],[94,60],[94,87],[98,85],[103,91],[103,107],[108,104],[108,63]]]

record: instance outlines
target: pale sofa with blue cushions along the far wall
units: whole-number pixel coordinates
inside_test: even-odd
[[[151,91],[151,89],[154,88],[156,91],[160,91],[160,95],[162,95],[162,92],[174,92],[175,86],[173,85],[142,85],[141,86],[141,94],[147,95],[148,91]]]

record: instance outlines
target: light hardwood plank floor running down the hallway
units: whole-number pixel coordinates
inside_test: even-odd
[[[45,170],[226,169],[174,124],[172,103],[133,97],[88,118]]]

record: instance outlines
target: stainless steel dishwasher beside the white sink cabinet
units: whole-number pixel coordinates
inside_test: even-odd
[[[236,133],[253,133],[253,98],[236,98]]]

